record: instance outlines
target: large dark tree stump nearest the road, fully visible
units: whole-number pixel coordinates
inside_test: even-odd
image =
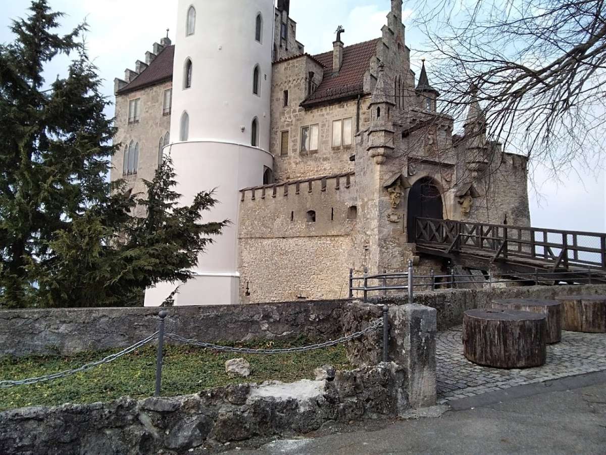
[[[547,316],[511,309],[470,309],[463,316],[463,351],[479,365],[528,368],[545,363]]]

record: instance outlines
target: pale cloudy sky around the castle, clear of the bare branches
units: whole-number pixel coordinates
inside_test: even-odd
[[[245,1],[245,0],[236,0]],[[8,30],[10,18],[27,15],[28,0],[2,0],[0,42],[12,40]],[[154,41],[166,35],[173,38],[176,22],[176,0],[49,0],[54,10],[66,13],[64,30],[86,19],[90,32],[86,37],[90,56],[105,79],[105,93],[112,96],[113,79],[124,77],[124,69],[134,68],[137,59]],[[345,27],[345,44],[380,36],[390,0],[293,0],[291,17],[297,21],[299,41],[309,53],[332,48],[337,25]],[[405,24],[414,15],[404,1]],[[424,36],[410,25],[407,44],[413,49],[413,70],[423,57],[415,52]],[[56,59],[47,68],[53,80],[64,73],[66,59]],[[428,62],[431,72],[431,62]],[[430,73],[431,74],[431,73]],[[431,75],[430,75],[431,78]],[[113,110],[108,110],[112,115]],[[532,224],[536,227],[606,231],[606,178],[604,170],[577,166],[576,172],[561,175],[561,181],[547,180],[540,167],[532,170],[530,191]]]

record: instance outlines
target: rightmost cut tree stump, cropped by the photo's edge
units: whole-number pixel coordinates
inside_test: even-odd
[[[562,303],[562,329],[606,333],[606,295],[556,297]]]

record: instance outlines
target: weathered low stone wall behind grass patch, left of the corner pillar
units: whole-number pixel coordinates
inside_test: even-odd
[[[0,311],[0,356],[70,355],[123,348],[158,329],[158,308],[66,308]],[[166,330],[205,342],[334,339],[342,302],[175,306]]]

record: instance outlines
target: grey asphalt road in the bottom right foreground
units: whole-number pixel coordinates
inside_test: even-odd
[[[230,454],[606,454],[606,373],[452,402],[441,417],[385,423]]]

